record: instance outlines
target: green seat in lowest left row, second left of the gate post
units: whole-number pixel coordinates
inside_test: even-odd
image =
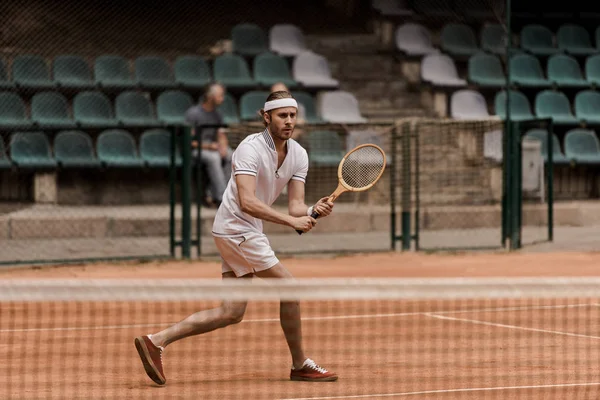
[[[123,129],[109,129],[98,136],[96,142],[98,159],[109,167],[143,167],[138,156],[135,140]]]

